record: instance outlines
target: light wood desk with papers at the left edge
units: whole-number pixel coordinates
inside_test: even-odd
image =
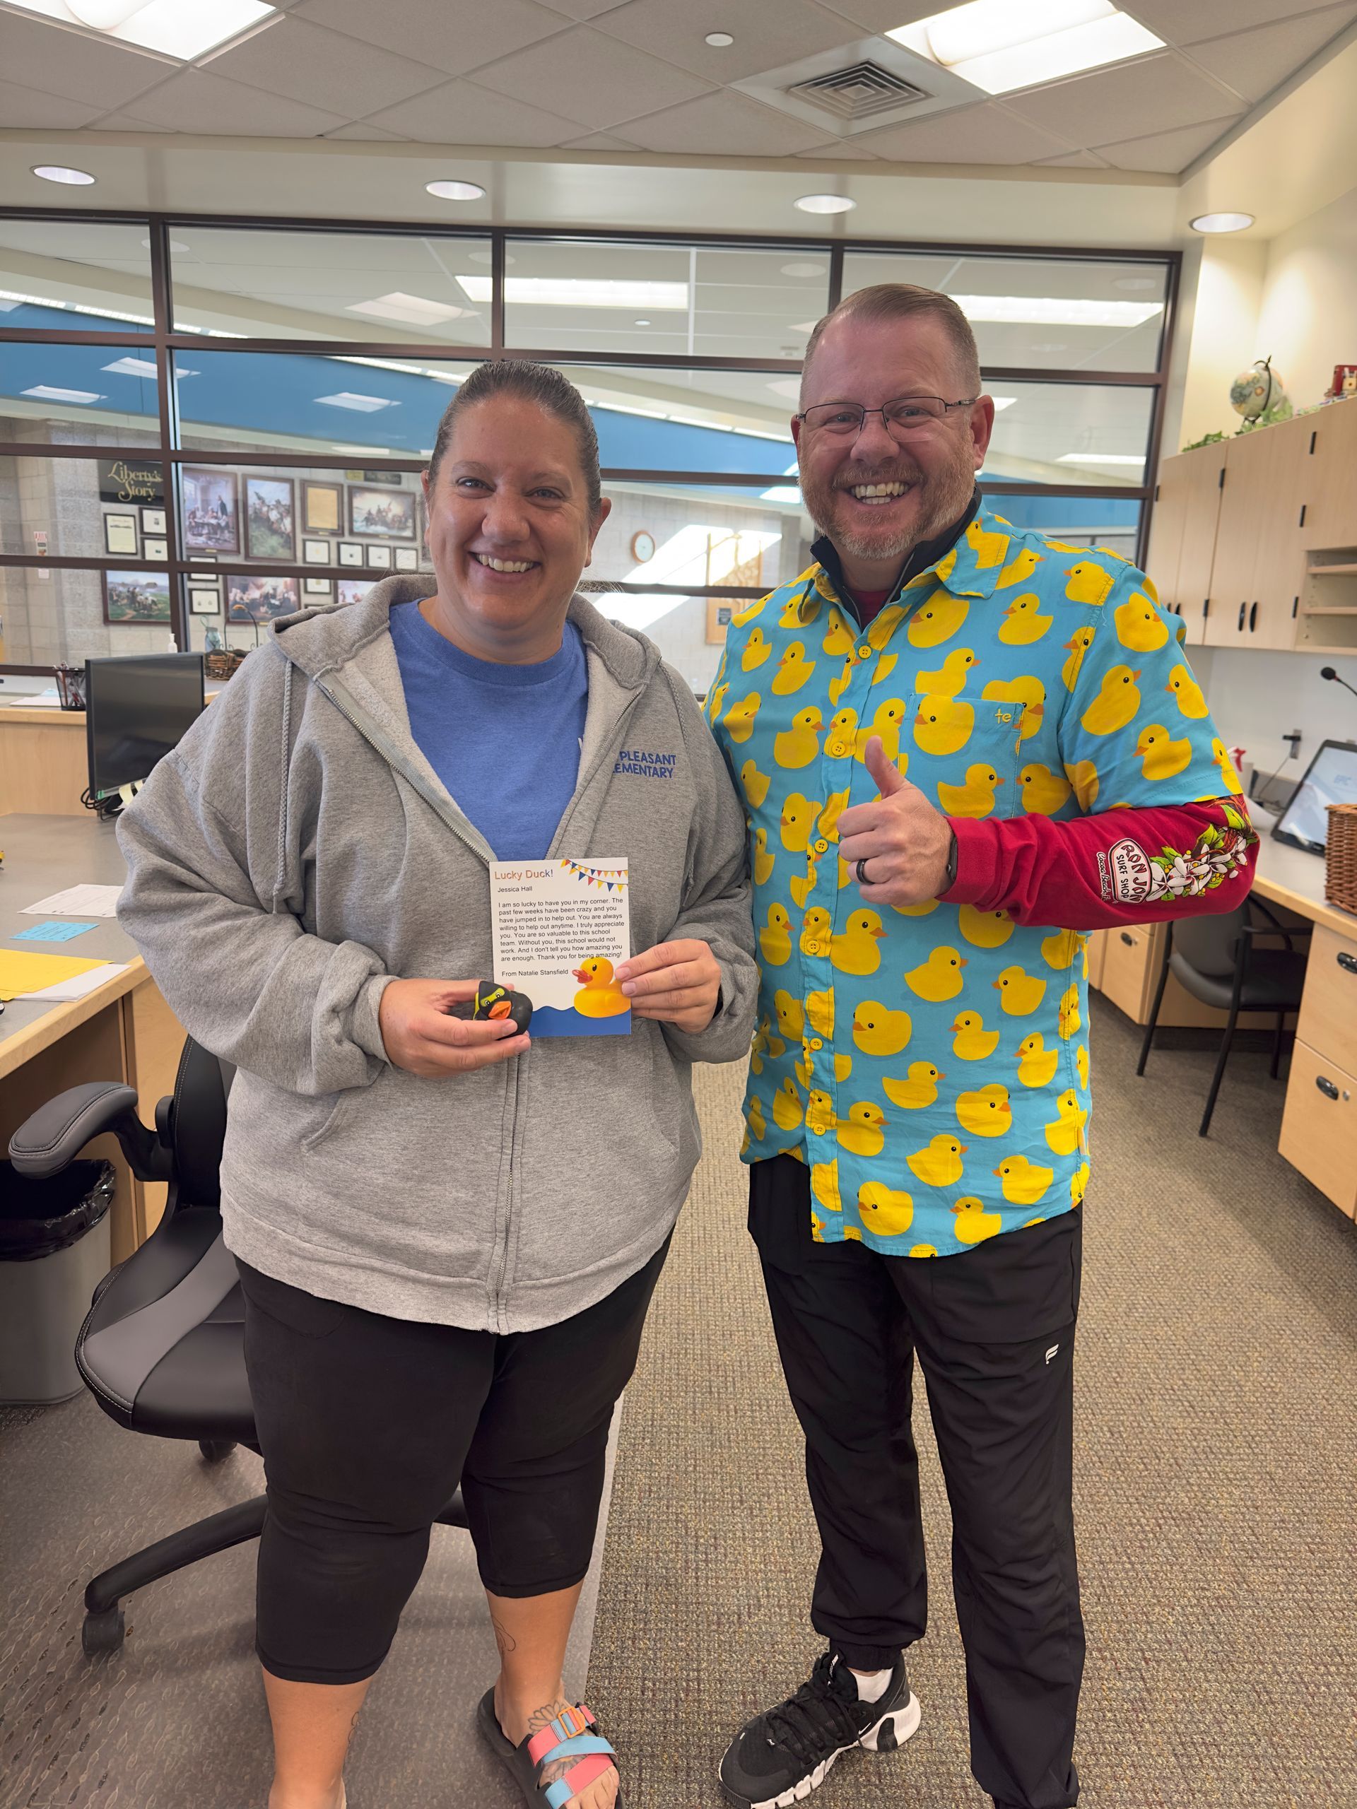
[[[4,715],[4,713],[0,713]],[[34,711],[36,715],[36,711]],[[81,718],[83,722],[83,718]],[[80,738],[83,754],[83,734]],[[71,816],[0,816],[0,942],[38,923],[24,906],[67,886],[121,885],[127,874],[112,823],[81,810]],[[27,944],[54,955],[125,961],[123,973],[76,1004],[11,999],[0,1017],[0,1147],[43,1100],[87,1080],[121,1080],[141,1094],[141,1116],[174,1093],[185,1031],[165,1004],[136,944],[112,917],[72,942]],[[165,1185],[138,1181],[118,1140],[96,1138],[89,1152],[107,1156],[118,1174],[112,1205],[112,1259],[143,1243],[165,1210]]]

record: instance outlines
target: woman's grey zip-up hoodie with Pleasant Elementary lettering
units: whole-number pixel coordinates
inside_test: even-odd
[[[394,1067],[387,980],[492,971],[492,850],[411,736],[391,642],[391,606],[427,593],[393,577],[277,624],[123,812],[118,915],[239,1066],[228,1248],[371,1312],[530,1331],[655,1254],[700,1154],[691,1062],[749,1047],[745,823],[691,691],[575,597],[588,715],[550,854],[624,854],[633,950],[709,942],[720,1011],[700,1035],[633,1018],[467,1075]]]

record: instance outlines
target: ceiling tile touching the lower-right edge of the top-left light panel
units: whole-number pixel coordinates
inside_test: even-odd
[[[208,67],[214,76],[324,107],[340,119],[360,119],[378,107],[394,107],[431,89],[440,74],[429,63],[393,56],[375,43],[358,43],[291,16],[214,56]]]

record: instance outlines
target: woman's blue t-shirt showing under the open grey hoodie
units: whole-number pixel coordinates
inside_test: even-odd
[[[478,660],[418,602],[391,610],[411,734],[501,861],[541,861],[575,791],[588,707],[584,642],[565,624],[539,666]]]

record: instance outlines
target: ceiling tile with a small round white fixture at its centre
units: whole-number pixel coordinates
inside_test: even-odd
[[[597,29],[711,81],[756,76],[858,36],[841,14],[812,0],[630,0],[599,18]],[[704,42],[709,31],[727,31],[735,43],[713,51]]]

